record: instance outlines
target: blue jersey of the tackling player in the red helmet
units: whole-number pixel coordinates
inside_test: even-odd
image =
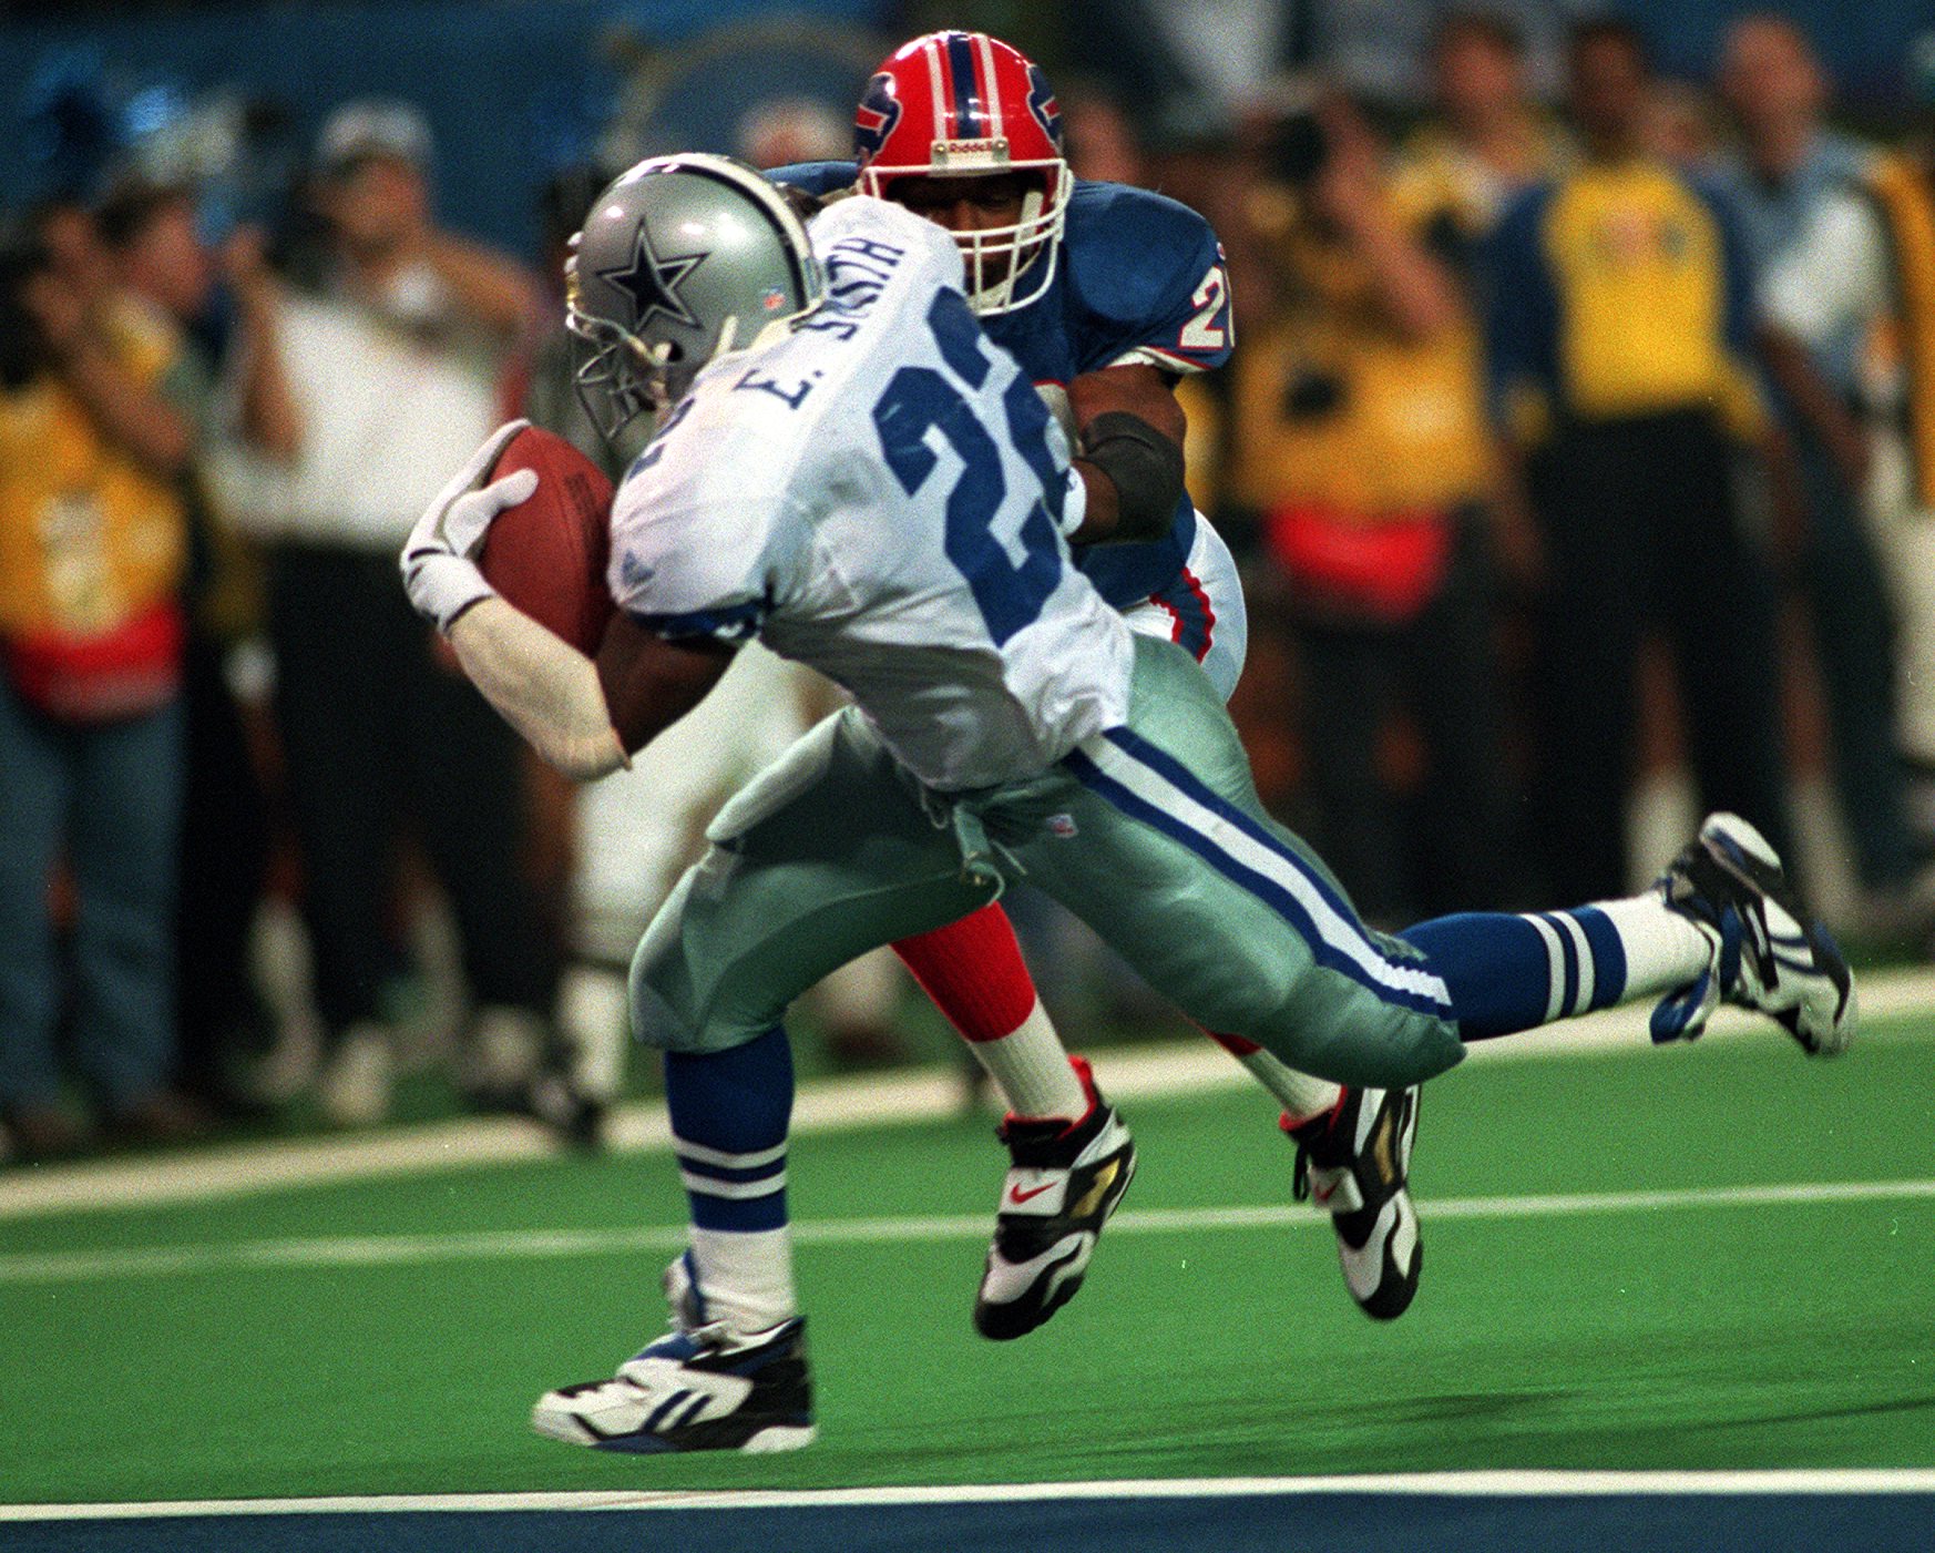
[[[832,194],[853,186],[855,167],[799,163],[766,176]],[[1027,306],[989,314],[981,327],[1051,403],[1107,366],[1209,372],[1229,358],[1233,339],[1223,250],[1188,205],[1126,184],[1078,182],[1055,279]],[[1184,496],[1165,538],[1082,546],[1076,565],[1124,610],[1175,583],[1194,542],[1196,509]]]

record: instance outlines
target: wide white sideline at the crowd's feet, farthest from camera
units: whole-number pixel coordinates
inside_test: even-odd
[[[1863,1028],[1856,1036],[1854,1051],[1836,1061],[1860,1061],[1861,1046],[1877,1040],[1918,1040],[1920,1034],[1912,1030],[1890,1032],[1887,1020],[1925,1015],[1935,1009],[1935,968],[1863,976],[1860,991],[1863,1026],[1881,1022],[1883,1028]],[[1759,1015],[1743,1009],[1720,1009],[1701,1044],[1743,1036],[1776,1044],[1788,1040]],[[1478,1042],[1469,1048],[1467,1061],[1496,1063],[1602,1051],[1633,1051],[1637,1055],[1651,1051],[1647,1005],[1606,1009],[1585,1019],[1563,1020],[1548,1030]],[[1097,1071],[1111,1100],[1206,1094],[1252,1082],[1242,1065],[1204,1040],[1105,1050],[1097,1057]],[[801,1137],[861,1127],[913,1125],[948,1115],[958,1104],[960,1077],[954,1069],[824,1079],[801,1084],[793,1102],[791,1131],[793,1137]],[[670,1150],[671,1127],[664,1102],[621,1108],[611,1115],[606,1139],[613,1152]],[[27,1214],[199,1203],[331,1181],[366,1181],[555,1156],[557,1146],[532,1121],[466,1117],[358,1137],[255,1142],[149,1160],[37,1166],[0,1173],[0,1220]]]

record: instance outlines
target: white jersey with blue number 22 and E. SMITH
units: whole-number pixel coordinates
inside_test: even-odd
[[[944,230],[853,198],[811,232],[826,304],[708,366],[627,472],[611,596],[811,664],[929,786],[1041,771],[1126,720],[1134,653],[1057,527],[1066,438]]]

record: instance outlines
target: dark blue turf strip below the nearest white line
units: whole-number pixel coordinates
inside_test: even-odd
[[[644,1518],[644,1520],[640,1520]],[[0,1522],[21,1553],[815,1553],[1053,1547],[1057,1553],[1929,1553],[1935,1493],[1271,1493],[704,1510],[462,1510]]]

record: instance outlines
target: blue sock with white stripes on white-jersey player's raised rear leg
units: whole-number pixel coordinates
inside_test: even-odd
[[[1486,1040],[1606,1009],[1625,995],[1625,949],[1596,906],[1461,912],[1407,928],[1451,990],[1465,1040]]]

